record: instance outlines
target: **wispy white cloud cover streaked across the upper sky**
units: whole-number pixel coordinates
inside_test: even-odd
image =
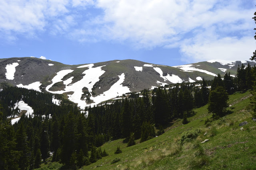
[[[18,35],[34,37],[50,32],[81,43],[115,41],[144,49],[178,47],[183,59],[188,61],[243,56],[248,59],[255,50],[253,3],[244,0],[1,0],[0,38],[15,41]]]

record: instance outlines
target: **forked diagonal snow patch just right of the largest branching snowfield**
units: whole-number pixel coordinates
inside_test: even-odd
[[[118,75],[118,77],[119,77],[119,80],[116,83],[114,83],[114,85],[112,85],[108,91],[105,91],[103,94],[100,94],[96,97],[90,98],[94,101],[94,105],[97,105],[102,101],[106,101],[108,99],[114,98],[118,95],[131,92],[128,87],[122,85],[125,77],[124,73],[122,73],[121,75]]]

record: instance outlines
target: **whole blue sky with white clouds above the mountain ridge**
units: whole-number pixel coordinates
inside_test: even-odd
[[[1,0],[0,58],[249,60],[255,0]]]

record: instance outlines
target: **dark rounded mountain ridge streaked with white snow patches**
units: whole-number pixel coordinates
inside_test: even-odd
[[[210,60],[180,66],[156,65],[127,59],[65,65],[33,57],[0,59],[0,89],[18,86],[64,94],[84,108],[146,88],[213,79],[218,73],[236,74],[238,65],[252,61]]]

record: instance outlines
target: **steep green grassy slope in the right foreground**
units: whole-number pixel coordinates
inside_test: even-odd
[[[256,122],[248,107],[249,96],[249,91],[230,95],[228,115],[207,125],[205,121],[212,115],[206,105],[194,109],[195,114],[188,117],[190,123],[182,125],[182,119],[177,119],[165,128],[164,134],[145,142],[137,140],[136,145],[127,147],[123,139],[110,141],[101,147],[109,156],[82,169],[256,169]],[[240,127],[244,121],[248,124]],[[185,133],[195,133],[197,129],[200,133],[189,141]],[[201,143],[205,139],[209,141]],[[118,146],[122,153],[114,154]],[[116,158],[120,161],[112,164]],[[50,160],[40,169],[62,166]]]

